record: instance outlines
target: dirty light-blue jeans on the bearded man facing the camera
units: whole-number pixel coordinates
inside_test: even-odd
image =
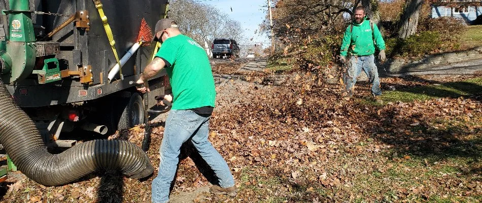
[[[375,96],[382,95],[382,89],[380,88],[380,78],[378,78],[378,70],[375,65],[375,57],[369,56],[352,56],[348,63],[348,70],[343,74],[343,80],[345,80],[345,87],[348,94],[353,94],[353,87],[357,82],[357,77],[360,75],[361,70],[365,71],[368,80],[371,83],[371,93]]]

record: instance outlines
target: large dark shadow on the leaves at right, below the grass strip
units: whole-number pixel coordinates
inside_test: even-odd
[[[466,164],[478,163],[482,159],[482,129],[477,127],[476,120],[452,124],[454,120],[443,118],[421,120],[420,114],[398,119],[397,111],[400,110],[393,108],[380,115],[370,115],[374,120],[380,120],[369,130],[372,138],[391,145],[394,152],[430,162],[454,158]],[[468,173],[481,174],[480,165],[468,165],[471,167]]]

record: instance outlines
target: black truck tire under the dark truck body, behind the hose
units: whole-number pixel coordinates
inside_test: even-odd
[[[118,130],[129,129],[135,125],[144,123],[144,103],[141,95],[135,92],[129,98],[129,102],[123,109],[123,112],[117,125]]]

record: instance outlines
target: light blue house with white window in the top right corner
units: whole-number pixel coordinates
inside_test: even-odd
[[[471,23],[480,15],[482,15],[480,1],[438,1],[432,4],[432,18],[452,16]]]

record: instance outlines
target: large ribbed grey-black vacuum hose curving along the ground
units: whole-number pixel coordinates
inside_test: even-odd
[[[25,176],[45,186],[71,183],[99,170],[120,170],[129,178],[144,178],[154,171],[147,154],[128,141],[95,140],[49,153],[38,129],[1,81],[0,143]]]

